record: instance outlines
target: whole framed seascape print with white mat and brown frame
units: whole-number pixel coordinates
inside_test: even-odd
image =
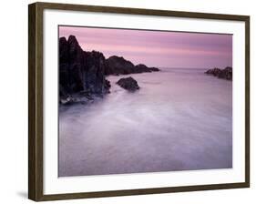
[[[29,5],[36,201],[250,186],[250,16]]]

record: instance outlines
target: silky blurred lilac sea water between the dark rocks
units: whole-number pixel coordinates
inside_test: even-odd
[[[59,108],[59,176],[232,168],[232,83],[203,69],[108,76],[111,94]],[[126,77],[126,76],[125,76]]]

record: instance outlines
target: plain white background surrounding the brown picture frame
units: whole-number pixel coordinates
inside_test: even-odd
[[[51,0],[51,2],[184,10],[251,15],[251,189],[225,189],[105,199],[63,200],[47,203],[255,203],[256,143],[254,1],[240,0]],[[0,203],[33,203],[27,197],[27,5],[10,0],[1,5],[0,31]]]

